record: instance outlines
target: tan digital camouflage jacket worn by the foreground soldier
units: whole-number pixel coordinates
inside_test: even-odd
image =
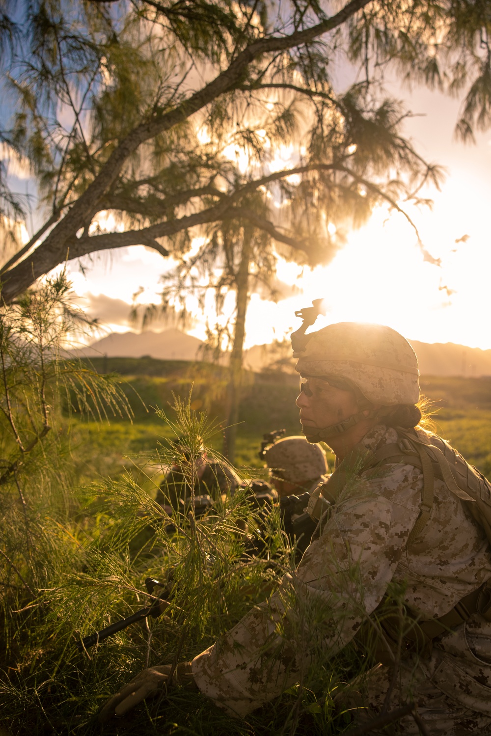
[[[397,439],[394,429],[377,425],[361,444],[375,451]],[[391,587],[403,590],[406,606],[425,620],[444,615],[490,578],[484,532],[442,481],[435,480],[430,520],[408,543],[422,488],[422,473],[409,464],[350,479],[297,570],[195,657],[199,689],[246,715],[341,650]],[[442,692],[491,713],[490,623],[476,615],[439,637],[422,666]]]

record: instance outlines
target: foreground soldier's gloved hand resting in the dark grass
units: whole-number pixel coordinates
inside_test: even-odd
[[[192,687],[197,690],[197,684],[194,682],[191,672],[191,662],[180,662],[174,670],[172,680],[169,680],[171,672],[172,665],[143,670],[131,682],[121,687],[119,693],[109,698],[99,713],[99,722],[105,723],[114,715],[124,715],[138,703],[144,701],[145,698],[158,695],[162,690],[167,690],[167,687],[174,684],[181,687]]]

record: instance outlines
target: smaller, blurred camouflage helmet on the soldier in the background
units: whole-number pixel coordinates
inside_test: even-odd
[[[266,464],[287,483],[301,485],[328,472],[325,452],[305,437],[284,437],[264,450]]]

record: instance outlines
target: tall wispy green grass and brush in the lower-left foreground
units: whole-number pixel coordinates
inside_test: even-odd
[[[94,432],[93,423],[77,422],[72,428],[74,445],[80,433],[78,453],[74,448],[75,456],[79,455],[77,462],[82,462],[80,451],[84,448],[92,463],[91,472],[97,467],[114,469],[116,440],[132,445],[125,434],[128,429],[133,432],[134,449],[144,447],[155,432],[171,436],[177,430],[191,445],[198,437],[207,442],[208,436],[213,436],[205,417],[197,417],[179,403],[177,419],[159,418],[160,425],[155,418],[145,425],[116,422],[102,425],[98,432]],[[161,452],[163,462],[169,462],[169,452]],[[91,472],[85,470],[87,479]],[[42,560],[38,596],[32,601],[18,584],[25,579],[24,567],[18,562],[10,578],[15,584],[8,585],[12,590],[10,611],[4,609],[8,648],[0,654],[1,669],[8,673],[0,678],[0,702],[7,705],[3,724],[12,734],[100,733],[96,715],[111,692],[148,665],[194,657],[264,598],[265,582],[274,588],[280,579],[272,573],[269,559],[261,556],[247,565],[239,564],[244,553],[241,530],[244,524],[252,528],[258,523],[245,495],[237,492],[223,509],[196,526],[181,518],[178,530],[182,531],[173,533],[166,531],[160,509],[155,508],[145,483],[136,476],[138,473],[126,473],[117,480],[92,478],[93,483],[85,489],[78,486],[72,501],[79,507],[63,523],[47,515],[47,509],[43,517],[29,519],[30,538],[35,535],[36,539],[30,552]],[[278,571],[286,572],[291,569],[289,548],[274,520],[272,525],[268,555],[275,556]],[[150,620],[148,628],[132,626],[88,653],[76,650],[77,631],[85,635],[139,608],[146,598],[141,590],[144,578],[165,577],[171,568],[170,618]],[[13,635],[9,635],[11,630]],[[289,712],[297,701],[297,693],[289,693],[247,722],[230,722],[200,693],[177,692],[160,704],[145,704],[103,730],[128,734],[142,730],[158,734],[275,733],[291,720]],[[312,720],[308,711],[303,718],[310,719],[309,723]]]

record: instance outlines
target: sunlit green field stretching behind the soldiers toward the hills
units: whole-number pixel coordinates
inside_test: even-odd
[[[110,422],[71,422],[72,446],[80,478],[111,475],[138,463],[138,453],[152,450],[169,430],[155,417],[155,407],[172,417],[174,394],[202,402],[212,418],[225,424],[221,399],[226,372],[209,364],[158,361],[155,358],[97,358],[93,367],[119,372],[127,382],[133,423],[114,418]],[[237,430],[236,464],[261,467],[258,450],[265,432],[286,428],[301,434],[295,406],[298,382],[285,374],[247,374]],[[437,432],[484,474],[491,473],[491,378],[421,378],[422,393],[431,402]],[[211,445],[222,450],[222,434]],[[125,456],[131,456],[130,461]],[[329,459],[333,456],[329,453]]]

